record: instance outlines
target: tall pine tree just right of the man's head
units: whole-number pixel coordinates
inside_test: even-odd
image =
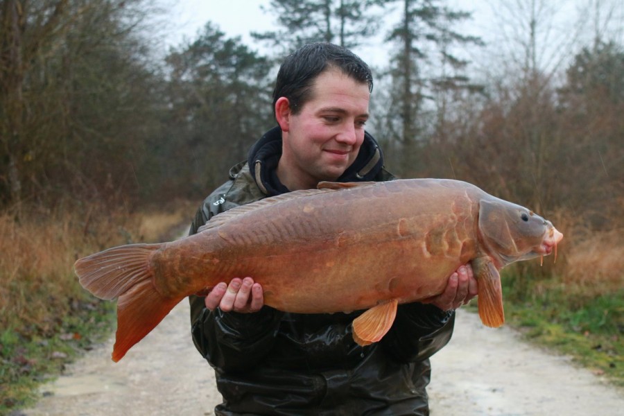
[[[386,4],[395,2],[390,0]],[[452,47],[481,41],[453,30],[453,25],[470,17],[469,12],[450,10],[440,0],[401,0],[400,3],[401,21],[387,38],[398,46],[390,68],[392,105],[387,125],[388,134],[398,139],[401,154],[405,155],[401,168],[406,172],[415,144],[424,139],[426,99],[433,100],[434,96],[453,89],[476,88],[462,73],[468,62],[454,55]],[[427,64],[442,71],[427,72]]]

